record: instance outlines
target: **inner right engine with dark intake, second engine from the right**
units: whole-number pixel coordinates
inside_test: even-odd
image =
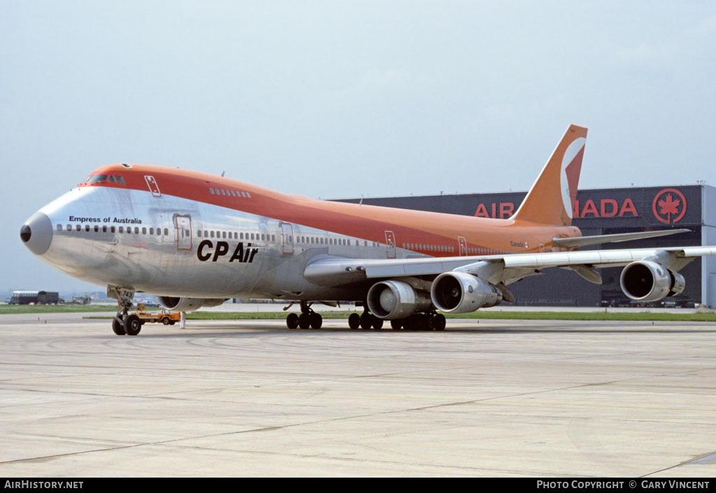
[[[432,304],[448,313],[468,313],[494,307],[502,302],[502,292],[489,282],[467,272],[445,272],[432,282]]]

